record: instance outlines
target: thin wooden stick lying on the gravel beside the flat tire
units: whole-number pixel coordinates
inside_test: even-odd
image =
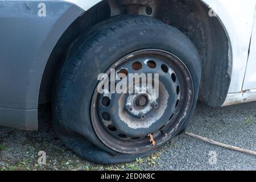
[[[210,144],[214,144],[214,145],[219,146],[219,147],[222,147],[222,148],[227,148],[227,149],[229,149],[229,150],[234,150],[234,151],[238,151],[238,152],[242,152],[242,153],[245,153],[245,154],[249,154],[249,155],[254,155],[254,156],[256,156],[256,152],[255,152],[255,151],[245,150],[245,149],[243,149],[243,148],[230,146],[230,145],[228,145],[228,144],[216,142],[216,141],[214,141],[214,140],[211,140],[211,139],[208,139],[208,138],[204,138],[204,137],[201,137],[201,136],[199,136],[199,135],[192,134],[192,133],[188,133],[188,132],[185,132],[185,134],[188,135],[189,137],[193,137],[193,138],[196,138],[196,139],[200,139],[200,140],[203,140],[204,142],[207,142],[207,143],[210,143]]]

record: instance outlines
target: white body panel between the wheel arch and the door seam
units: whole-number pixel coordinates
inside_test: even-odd
[[[229,93],[241,92],[246,71],[251,31],[253,29],[255,0],[204,0],[220,18],[228,33],[233,69]]]

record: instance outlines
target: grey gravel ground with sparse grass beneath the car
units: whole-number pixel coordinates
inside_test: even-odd
[[[256,102],[217,109],[198,104],[188,131],[256,151],[255,108]],[[0,170],[256,170],[255,156],[213,146],[185,134],[137,162],[96,165],[61,144],[48,111],[46,106],[39,110],[39,131],[0,127]],[[46,152],[46,165],[38,164],[39,151]],[[209,155],[210,151],[214,156]]]

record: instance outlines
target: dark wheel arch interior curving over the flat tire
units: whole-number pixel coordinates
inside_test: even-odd
[[[51,100],[52,77],[56,76],[56,69],[61,64],[63,55],[73,40],[93,24],[109,18],[111,14],[113,15],[113,10],[115,10],[115,15],[127,13],[127,10],[124,9],[129,1],[134,3],[134,0],[119,1],[123,5],[118,10],[119,4],[117,5],[115,0],[109,2],[106,0],[89,1],[89,4],[84,1],[73,1],[85,10],[85,14],[69,26],[53,49],[44,69],[39,104]],[[156,1],[157,7],[154,16],[183,31],[200,53],[203,62],[203,76],[199,100],[209,106],[221,106],[228,94],[232,73],[232,47],[224,24],[218,15],[209,16],[208,0],[152,0],[152,2]],[[147,5],[147,2],[151,1],[141,0],[141,2],[146,2]]]

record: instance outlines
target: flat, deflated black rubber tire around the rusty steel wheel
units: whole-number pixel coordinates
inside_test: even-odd
[[[187,66],[193,80],[191,112],[178,134],[188,125],[195,110],[201,78],[200,56],[181,31],[148,16],[121,15],[97,24],[72,44],[53,89],[53,120],[64,144],[87,160],[101,164],[131,162],[155,152],[120,154],[105,146],[94,133],[90,100],[97,76],[130,52],[156,48],[171,52]]]

